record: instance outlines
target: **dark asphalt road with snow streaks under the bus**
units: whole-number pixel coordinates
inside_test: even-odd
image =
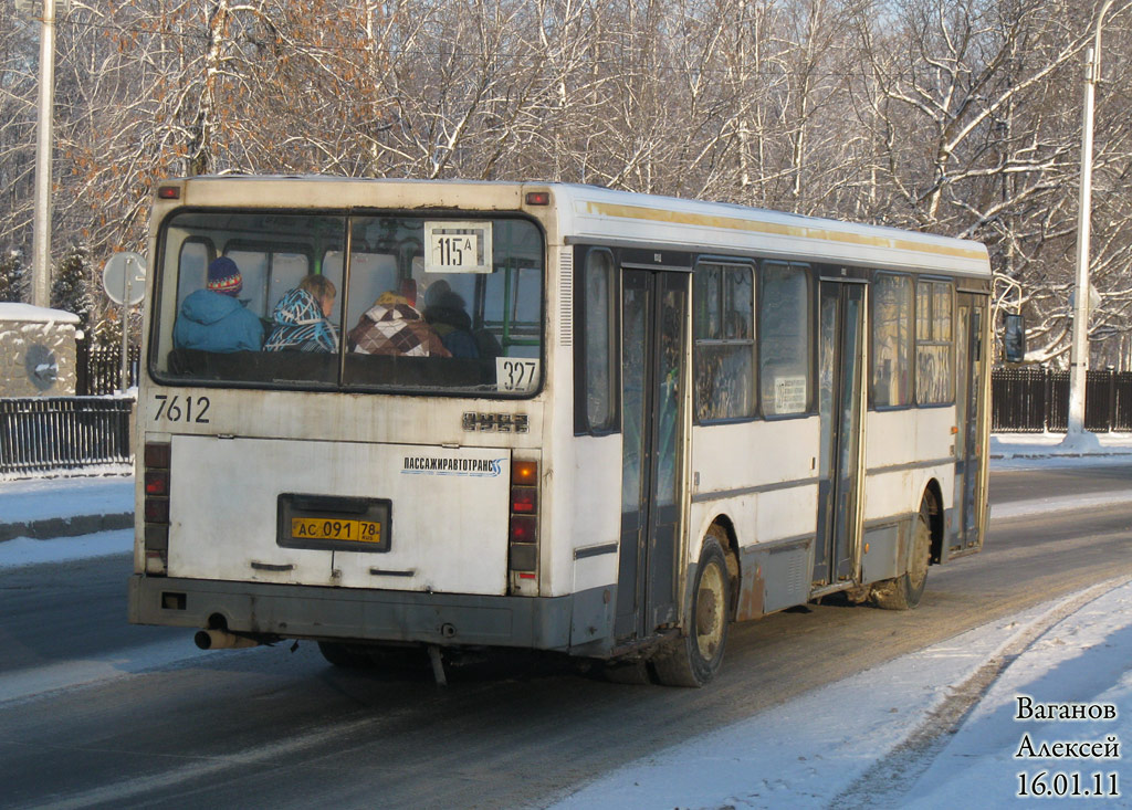
[[[992,477],[992,501],[1130,484],[1132,464],[1009,472]],[[996,520],[983,554],[932,569],[918,610],[830,603],[734,627],[702,690],[526,657],[439,689],[335,670],[306,643],[197,654],[190,632],[125,624],[126,557],[0,572],[0,807],[541,805],[697,732],[1132,574],[1130,552],[1132,503]],[[51,690],[60,672],[95,682]]]

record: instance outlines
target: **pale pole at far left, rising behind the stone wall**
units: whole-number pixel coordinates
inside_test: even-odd
[[[40,122],[35,141],[35,213],[32,222],[32,303],[51,305],[51,153],[55,107],[55,0],[40,17]],[[28,6],[31,3],[27,3]]]

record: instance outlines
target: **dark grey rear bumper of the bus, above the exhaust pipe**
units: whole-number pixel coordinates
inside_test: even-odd
[[[614,586],[568,596],[478,596],[362,591],[134,575],[135,624],[205,628],[220,614],[234,632],[284,638],[420,641],[602,655],[612,647]]]

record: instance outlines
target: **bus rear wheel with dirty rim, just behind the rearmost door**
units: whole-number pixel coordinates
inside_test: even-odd
[[[715,677],[727,647],[730,592],[727,558],[719,529],[713,527],[700,552],[685,634],[652,661],[658,681],[667,687],[698,688]]]

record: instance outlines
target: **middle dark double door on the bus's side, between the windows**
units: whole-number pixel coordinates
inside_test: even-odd
[[[818,412],[822,421],[814,586],[849,581],[857,550],[865,286],[821,283]]]

